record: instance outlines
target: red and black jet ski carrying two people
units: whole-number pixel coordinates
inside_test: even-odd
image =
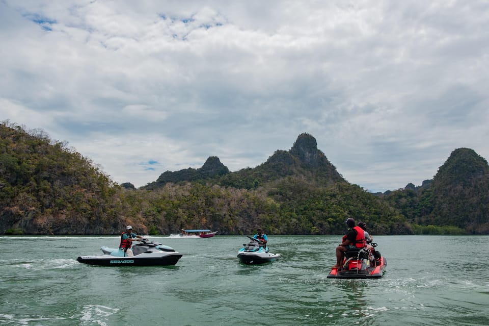
[[[374,242],[368,242],[373,248]],[[327,278],[334,279],[378,279],[387,266],[387,260],[377,250],[364,248],[347,249],[340,268],[333,268]]]

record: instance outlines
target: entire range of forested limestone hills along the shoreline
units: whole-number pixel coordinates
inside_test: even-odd
[[[167,171],[135,189],[113,183],[89,159],[42,131],[25,131],[4,121],[0,234],[120,234],[125,224],[154,235],[186,228],[251,234],[258,227],[275,235],[342,234],[348,217],[367,221],[373,234],[412,234],[428,223],[480,233],[484,229],[477,225],[486,215],[476,214],[479,220],[473,221],[466,214],[467,221],[459,223],[450,214],[458,206],[479,205],[471,201],[476,189],[481,198],[484,189],[487,195],[487,162],[473,154],[456,164],[452,155],[433,187],[414,187],[413,195],[392,192],[399,200],[349,184],[309,134],[299,135],[289,151],[278,150],[255,168],[230,172],[219,158],[209,157],[200,169]],[[459,174],[467,161],[474,169]],[[461,199],[447,208],[447,196]]]

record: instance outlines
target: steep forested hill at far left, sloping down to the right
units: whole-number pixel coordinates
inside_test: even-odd
[[[117,203],[89,159],[42,131],[0,125],[0,234],[114,233],[124,223]]]

